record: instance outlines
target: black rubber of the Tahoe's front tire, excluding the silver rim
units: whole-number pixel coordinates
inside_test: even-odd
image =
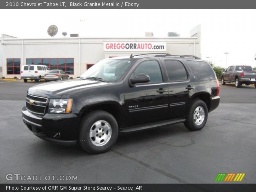
[[[111,138],[104,146],[95,146],[90,140],[90,128],[98,120],[105,120],[110,124],[112,128]],[[86,150],[89,153],[98,154],[110,150],[112,146],[116,143],[117,137],[118,124],[115,118],[108,112],[99,110],[89,113],[84,117],[84,120],[82,120],[78,134],[78,142],[82,149]]]

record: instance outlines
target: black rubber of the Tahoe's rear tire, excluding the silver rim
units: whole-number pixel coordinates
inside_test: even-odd
[[[194,122],[194,111],[196,110],[196,108],[198,106],[201,106],[202,108],[204,108],[204,121],[202,122],[202,124],[200,125],[197,125],[195,122]],[[206,122],[207,122],[207,119],[208,119],[208,108],[205,104],[204,101],[202,100],[194,100],[192,102],[192,104],[190,105],[190,109],[189,109],[189,112],[188,112],[188,115],[187,115],[187,118],[186,118],[186,124],[188,126],[186,126],[189,130],[201,130],[202,128],[204,128]]]

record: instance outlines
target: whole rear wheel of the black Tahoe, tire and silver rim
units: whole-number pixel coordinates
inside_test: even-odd
[[[195,119],[196,118],[196,119]],[[208,118],[208,108],[204,101],[193,100],[188,108],[184,125],[188,130],[198,131],[204,128]]]

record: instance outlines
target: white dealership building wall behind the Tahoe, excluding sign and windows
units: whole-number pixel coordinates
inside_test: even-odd
[[[86,71],[86,64],[95,64],[110,56],[130,56],[145,52],[104,52],[103,42],[166,42],[166,53],[172,55],[195,55],[200,57],[198,37],[168,38],[46,38],[19,39],[2,38],[2,76],[13,78],[20,75],[6,74],[6,59],[20,58],[21,66],[26,58],[74,58],[74,75],[77,77]],[[23,46],[23,49],[22,49]],[[23,60],[22,60],[23,58]]]

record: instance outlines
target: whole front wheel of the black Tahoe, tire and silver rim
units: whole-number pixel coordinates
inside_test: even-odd
[[[106,131],[106,129],[108,130]],[[100,138],[103,138],[103,141]],[[82,118],[78,143],[86,152],[92,154],[107,152],[114,146],[117,138],[118,124],[110,113],[95,110]]]

